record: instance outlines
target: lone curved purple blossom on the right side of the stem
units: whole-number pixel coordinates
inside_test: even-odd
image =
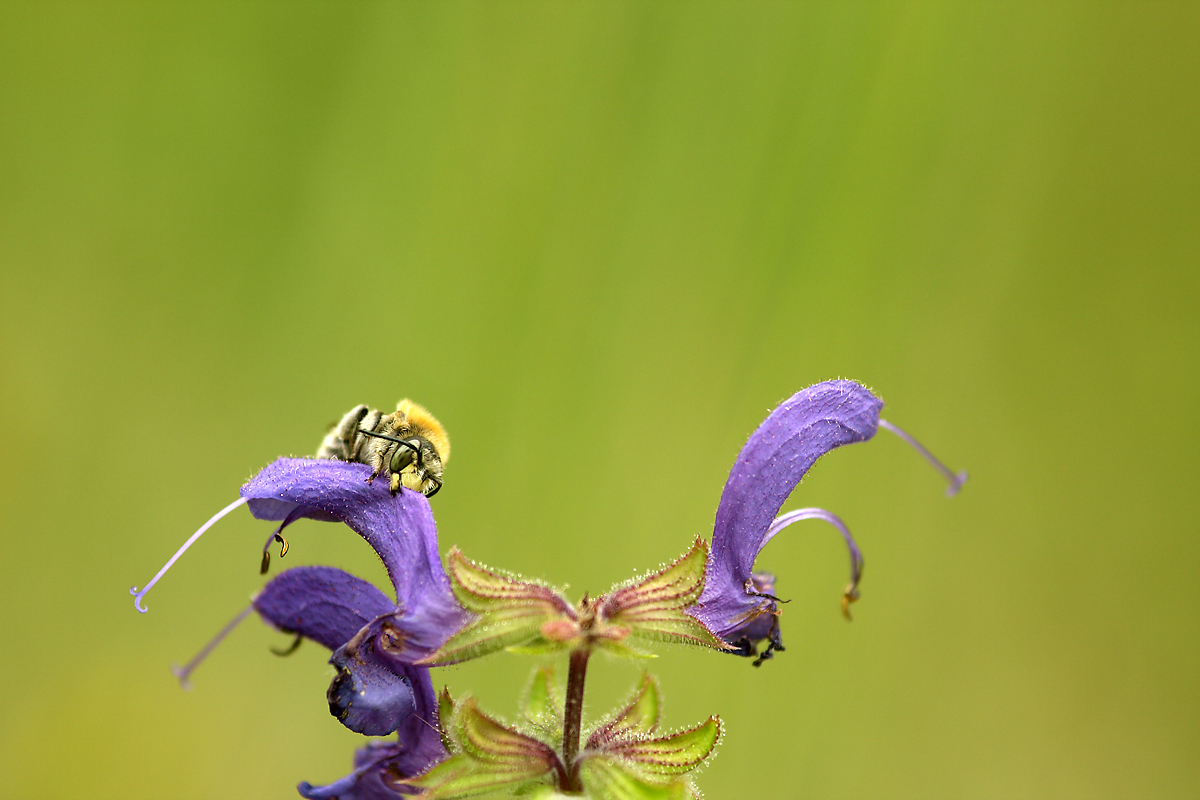
[[[830,450],[865,441],[878,427],[894,431],[946,474],[952,493],[966,480],[932,458],[911,437],[880,420],[883,401],[852,380],[829,380],[793,395],[770,413],[742,449],[716,507],[713,547],[704,591],[690,613],[743,656],[758,656],[755,666],[782,650],[775,577],[754,572],[758,553],[775,534],[800,519],[823,519],[846,540],[851,583],[844,610],[858,597],[863,555],[845,523],[822,509],[800,509],[776,517],[784,501],[809,468]],[[848,615],[848,610],[847,610]],[[758,655],[757,645],[767,649]]]

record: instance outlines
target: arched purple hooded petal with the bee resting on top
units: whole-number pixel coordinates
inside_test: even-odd
[[[286,519],[301,506],[300,516],[344,522],[362,536],[396,587],[402,627],[427,646],[424,655],[428,655],[462,626],[467,614],[442,569],[428,500],[408,489],[392,497],[384,481],[367,483],[370,474],[365,464],[280,458],[251,479],[241,494],[259,519]]]

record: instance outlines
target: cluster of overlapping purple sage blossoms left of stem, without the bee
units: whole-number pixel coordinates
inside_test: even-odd
[[[268,545],[282,540],[280,534],[296,519],[343,522],[383,560],[395,601],[361,578],[322,566],[287,570],[253,600],[253,610],[270,625],[332,650],[330,663],[337,674],[328,699],[330,712],[342,724],[366,735],[397,734],[395,742],[359,750],[355,769],[344,778],[324,787],[301,783],[305,798],[394,800],[400,793],[392,782],[419,775],[446,757],[430,670],[415,662],[440,648],[469,615],[455,600],[442,567],[428,500],[409,489],[392,497],[386,486],[366,483],[370,473],[364,464],[280,458],[251,479],[241,488],[242,499],[205,523],[167,564],[242,503],[257,518],[281,523]],[[134,590],[138,600],[161,576],[140,593]],[[176,670],[185,685],[192,669],[248,610]]]

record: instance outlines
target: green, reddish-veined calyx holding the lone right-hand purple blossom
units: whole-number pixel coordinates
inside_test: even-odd
[[[697,536],[691,549],[670,566],[605,595],[596,609],[600,630],[618,626],[641,638],[730,650],[685,610],[704,590],[707,564],[708,545]]]

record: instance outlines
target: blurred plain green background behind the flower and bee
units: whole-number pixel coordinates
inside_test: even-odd
[[[787,652],[664,649],[709,798],[1200,794],[1200,5],[0,6],[0,796],[289,798],[349,770],[250,620],[240,483],[401,396],[442,545],[572,595],[712,530],[767,410],[882,434],[760,566]],[[383,581],[292,529],[280,566]],[[436,674],[511,715],[532,661]],[[640,667],[592,669],[589,712]]]

